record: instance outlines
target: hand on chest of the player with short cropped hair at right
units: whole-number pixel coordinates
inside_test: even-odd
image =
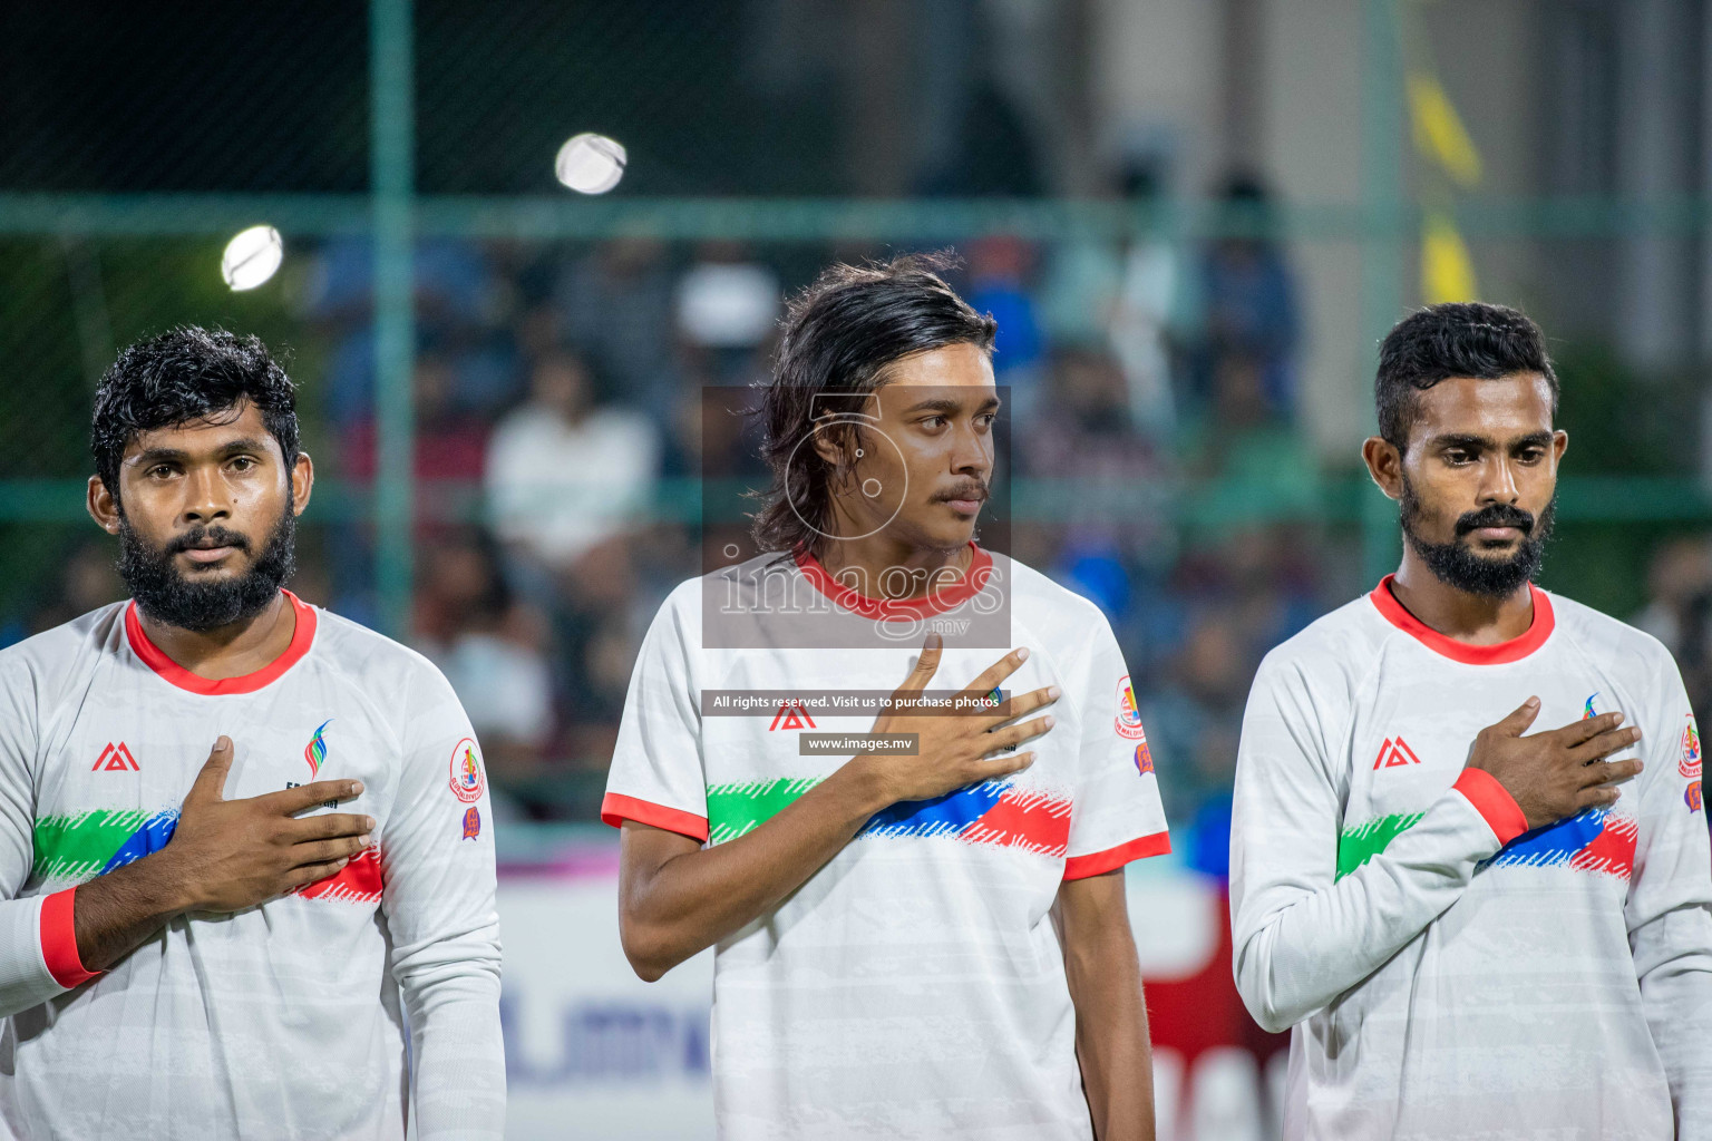
[[[1474,737],[1469,768],[1496,777],[1531,830],[1616,804],[1613,785],[1638,773],[1642,765],[1604,758],[1640,741],[1640,729],[1620,729],[1621,713],[1601,713],[1524,737],[1536,717],[1539,698],[1529,698],[1501,722],[1483,729]]]

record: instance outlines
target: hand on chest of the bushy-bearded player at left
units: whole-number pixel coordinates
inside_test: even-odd
[[[363,790],[356,780],[315,783],[248,801],[226,799],[231,737],[214,742],[161,855],[183,878],[187,912],[238,912],[325,879],[370,843],[375,821],[356,813],[294,814]]]

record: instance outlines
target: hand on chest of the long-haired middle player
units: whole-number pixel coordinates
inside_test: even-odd
[[[877,734],[916,734],[916,753],[859,758],[878,777],[887,804],[931,801],[964,785],[1022,772],[1034,763],[1034,753],[1012,753],[1010,749],[1046,734],[1053,727],[1051,713],[1022,724],[1012,722],[1043,705],[1056,701],[1060,696],[1058,686],[1044,686],[1012,696],[1008,708],[1002,706],[991,713],[911,713],[907,708],[909,701],[919,698],[928,681],[938,672],[943,647],[945,643],[938,635],[928,635],[921,645],[921,657],[916,659],[916,667],[904,679],[904,684],[892,693],[894,712],[882,713],[873,722],[873,732]],[[1017,672],[1017,667],[1027,657],[1027,648],[1012,650],[984,669],[959,696],[974,700],[991,693],[1005,677]]]

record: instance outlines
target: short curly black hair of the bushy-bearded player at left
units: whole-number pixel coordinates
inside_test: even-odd
[[[96,476],[118,500],[118,465],[139,433],[193,421],[221,423],[250,402],[279,441],[286,469],[298,462],[296,387],[257,337],[181,325],[118,354],[96,388],[89,450]]]

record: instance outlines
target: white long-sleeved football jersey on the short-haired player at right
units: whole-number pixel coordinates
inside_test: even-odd
[[[1294,1025],[1286,1138],[1712,1138],[1702,748],[1659,641],[1534,588],[1453,641],[1390,578],[1267,655],[1231,831],[1236,982]],[[1529,831],[1476,734],[1621,710],[1645,768]]]

